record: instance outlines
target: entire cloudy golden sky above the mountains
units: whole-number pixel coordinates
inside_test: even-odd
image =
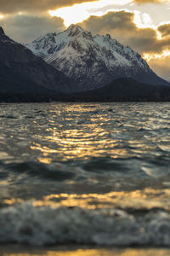
[[[170,0],[0,0],[0,26],[20,43],[72,23],[111,34],[170,79]]]

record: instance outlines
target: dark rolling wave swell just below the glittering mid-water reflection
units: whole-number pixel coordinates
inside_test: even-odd
[[[150,158],[144,156],[127,157],[126,159],[111,159],[110,157],[94,157],[85,161],[55,161],[49,164],[25,161],[5,163],[0,161],[0,180],[10,182],[29,182],[35,180],[45,180],[48,182],[79,182],[80,180],[90,180],[94,177],[102,183],[100,177],[105,177],[115,182],[124,180],[128,183],[128,178],[134,180],[150,179],[150,177],[165,177],[169,175],[165,157]]]

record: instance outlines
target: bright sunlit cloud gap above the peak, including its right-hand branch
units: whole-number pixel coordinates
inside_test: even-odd
[[[117,3],[118,2],[118,3]],[[134,20],[136,26],[139,28],[151,28],[157,33],[157,39],[161,40],[161,32],[157,30],[157,26],[153,24],[153,20],[147,13],[142,14],[138,10],[130,11],[128,9],[113,9],[116,6],[123,6],[127,3],[132,3],[133,0],[100,0],[88,3],[79,3],[70,7],[60,8],[56,10],[50,10],[51,16],[57,16],[64,20],[65,26],[71,24],[81,23],[83,20],[87,20],[91,15],[103,16],[108,12],[126,11],[134,14]],[[74,15],[73,15],[74,14]]]

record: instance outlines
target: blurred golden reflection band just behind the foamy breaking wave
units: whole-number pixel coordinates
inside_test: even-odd
[[[131,210],[151,210],[154,208],[170,211],[170,189],[144,189],[133,192],[110,192],[106,194],[52,194],[42,200],[32,201],[34,207],[82,207],[86,209],[122,208]],[[20,199],[4,200],[13,205],[22,202]]]

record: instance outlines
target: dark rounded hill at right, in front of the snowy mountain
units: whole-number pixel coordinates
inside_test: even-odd
[[[75,102],[169,102],[170,85],[142,84],[134,79],[121,78],[99,89],[65,98]]]

